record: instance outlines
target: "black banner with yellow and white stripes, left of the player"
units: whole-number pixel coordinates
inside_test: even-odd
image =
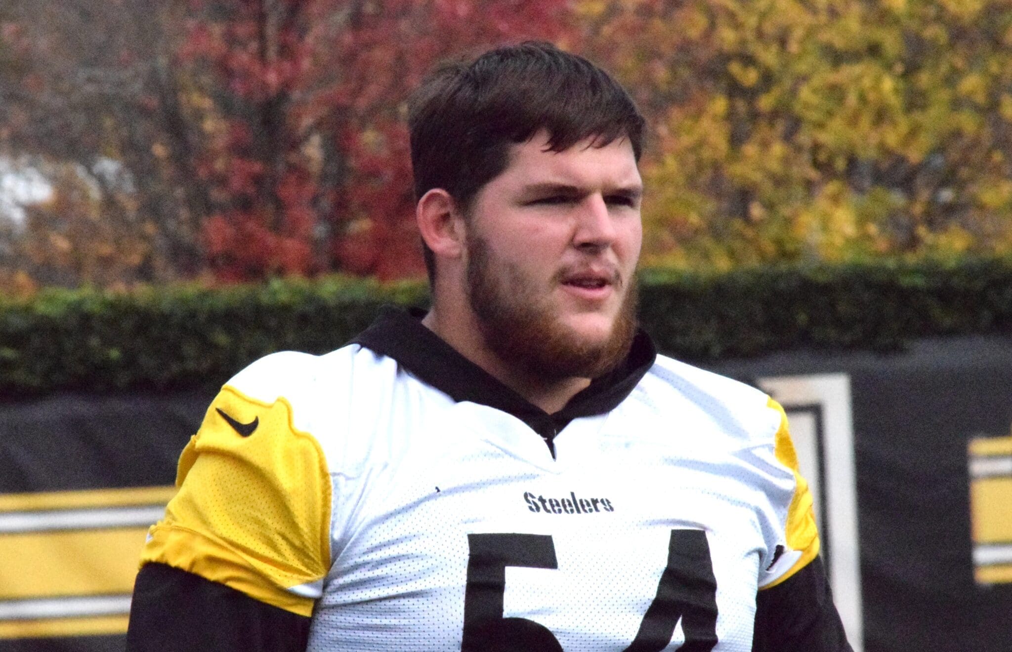
[[[122,652],[148,527],[212,398],[0,402],[0,649]]]

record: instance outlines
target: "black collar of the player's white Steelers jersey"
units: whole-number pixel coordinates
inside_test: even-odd
[[[386,306],[351,344],[394,358],[412,374],[453,400],[472,401],[513,414],[550,442],[572,420],[610,411],[622,402],[653,366],[657,350],[637,332],[629,355],[614,371],[595,378],[554,414],[534,405],[471,362],[424,327],[425,311]]]

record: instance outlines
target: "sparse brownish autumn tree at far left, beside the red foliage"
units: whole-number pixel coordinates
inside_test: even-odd
[[[116,252],[136,262],[117,266],[120,280],[196,274],[207,200],[195,183],[196,132],[182,113],[183,83],[173,66],[179,9],[143,0],[11,0],[5,9],[0,42],[12,54],[0,66],[2,152],[52,172],[57,195],[75,196],[72,187],[87,186],[93,197],[72,203],[96,211],[88,219],[108,224],[123,242],[148,243],[141,258],[133,246]],[[72,182],[68,170],[79,180]],[[43,221],[56,226],[55,218]],[[111,244],[98,240],[103,228],[68,232],[85,258],[85,250]],[[20,237],[43,267],[55,270],[65,260],[59,248],[46,248],[41,232],[29,228]],[[43,240],[29,242],[35,237]],[[47,251],[52,260],[38,261]],[[56,275],[71,284],[92,280],[65,272]]]

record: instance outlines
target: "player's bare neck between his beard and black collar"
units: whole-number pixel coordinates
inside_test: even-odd
[[[488,347],[473,313],[465,310],[453,312],[454,314],[447,315],[443,310],[433,307],[422,319],[422,324],[461,356],[545,412],[558,412],[590,384],[590,378],[547,380],[526,372],[517,364],[510,364]]]

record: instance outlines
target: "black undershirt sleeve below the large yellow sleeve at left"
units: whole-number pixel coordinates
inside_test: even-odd
[[[165,564],[134,584],[128,652],[305,652],[310,619]]]

